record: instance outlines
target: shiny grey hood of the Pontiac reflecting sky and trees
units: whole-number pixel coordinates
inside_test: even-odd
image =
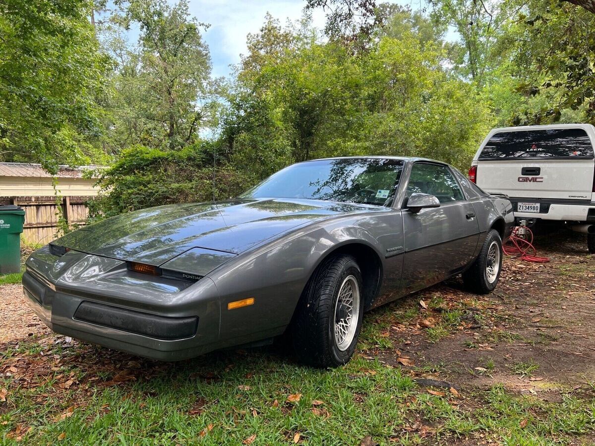
[[[217,266],[230,256],[313,221],[383,210],[388,211],[380,206],[299,199],[167,205],[105,219],[52,244],[155,266],[182,253],[189,257],[185,260],[198,259],[199,263],[204,263],[207,256],[208,263]]]

